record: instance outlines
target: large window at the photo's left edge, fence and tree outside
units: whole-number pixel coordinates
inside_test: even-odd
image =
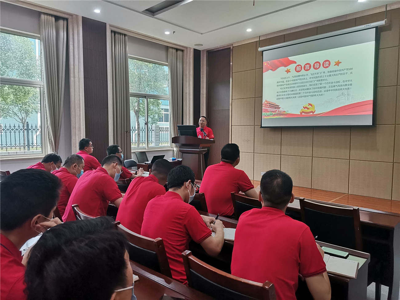
[[[40,40],[0,32],[0,154],[44,153]]]

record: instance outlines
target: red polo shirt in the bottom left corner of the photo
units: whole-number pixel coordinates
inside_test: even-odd
[[[25,270],[21,251],[6,236],[0,234],[0,299],[26,299]]]

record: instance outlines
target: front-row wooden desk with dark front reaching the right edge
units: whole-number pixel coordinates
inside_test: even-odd
[[[295,198],[286,213],[301,220],[300,204],[298,197]],[[325,201],[312,201],[327,204]],[[329,205],[353,207],[332,202]],[[400,214],[360,207],[360,220],[363,251],[371,255],[368,283],[388,286],[388,299],[397,300],[400,282]]]

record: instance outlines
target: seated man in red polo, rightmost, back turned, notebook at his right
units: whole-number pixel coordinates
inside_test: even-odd
[[[285,215],[294,201],[292,178],[270,170],[262,176],[260,188],[262,208],[244,212],[236,227],[232,275],[262,283],[268,280],[275,286],[277,300],[296,300],[300,274],[314,299],[330,299],[324,251],[306,224]],[[248,255],[249,249],[254,255]]]

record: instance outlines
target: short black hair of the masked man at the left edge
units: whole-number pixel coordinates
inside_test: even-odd
[[[0,182],[0,229],[14,230],[37,214],[48,216],[57,205],[61,182],[38,169],[18,170]]]

